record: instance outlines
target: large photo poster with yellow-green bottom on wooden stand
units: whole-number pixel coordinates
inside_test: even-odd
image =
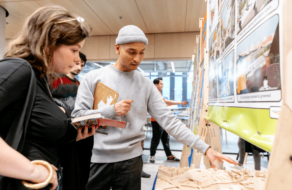
[[[228,0],[221,13],[218,7],[219,61],[212,57],[212,42],[208,46],[205,119],[266,151],[272,148],[282,106],[282,9],[279,0]],[[215,40],[212,35],[209,41]]]

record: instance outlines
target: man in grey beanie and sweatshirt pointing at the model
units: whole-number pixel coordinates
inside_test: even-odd
[[[123,27],[116,39],[117,62],[88,72],[80,83],[72,116],[101,113],[105,118],[130,123],[126,129],[110,126],[98,128],[110,135],[94,135],[86,190],[109,190],[110,187],[112,190],[141,190],[141,141],[145,139],[143,126],[147,112],[179,142],[205,153],[215,170],[215,160],[237,164],[194,135],[167,107],[153,82],[136,71],[147,44],[141,29],[133,25]],[[109,105],[107,102],[108,105],[92,110],[97,82],[119,93],[117,103]]]

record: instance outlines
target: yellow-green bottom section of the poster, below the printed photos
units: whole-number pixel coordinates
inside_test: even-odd
[[[205,119],[270,152],[278,119],[269,109],[209,106]]]

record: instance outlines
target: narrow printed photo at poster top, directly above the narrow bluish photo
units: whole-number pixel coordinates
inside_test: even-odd
[[[220,53],[223,53],[235,38],[235,0],[229,0],[225,6],[220,18],[220,31]]]

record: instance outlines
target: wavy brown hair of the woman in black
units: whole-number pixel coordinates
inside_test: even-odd
[[[19,57],[43,77],[59,45],[75,45],[89,36],[91,27],[60,6],[45,6],[30,15],[21,33],[9,43],[4,57]],[[73,21],[68,21],[73,19]],[[68,21],[58,23],[61,21]]]

